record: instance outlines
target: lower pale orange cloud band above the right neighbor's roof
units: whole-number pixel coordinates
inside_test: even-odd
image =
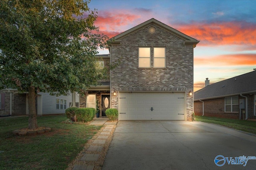
[[[195,58],[194,64],[214,66],[256,65],[256,54],[229,54],[209,58]]]

